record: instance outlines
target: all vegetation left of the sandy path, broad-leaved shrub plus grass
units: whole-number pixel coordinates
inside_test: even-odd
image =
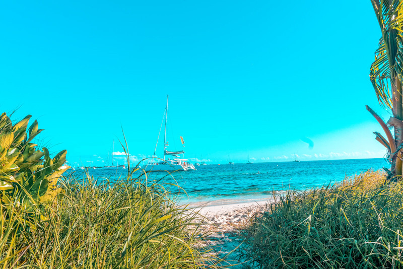
[[[36,121],[27,128],[29,117],[0,121],[0,268],[219,266],[200,216],[166,185],[138,167],[119,178],[63,176],[66,152],[36,150],[31,138],[41,130]]]

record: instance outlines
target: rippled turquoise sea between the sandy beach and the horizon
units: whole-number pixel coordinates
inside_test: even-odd
[[[183,204],[229,204],[270,198],[273,192],[304,190],[342,181],[368,169],[389,167],[384,159],[213,164],[196,166],[196,171],[149,173],[149,181],[169,185]],[[95,177],[124,176],[127,169],[89,169]],[[76,170],[76,173],[80,171]]]

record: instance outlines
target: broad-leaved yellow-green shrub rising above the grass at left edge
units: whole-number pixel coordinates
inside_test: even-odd
[[[28,128],[30,118],[13,124],[6,113],[0,116],[0,203],[7,207],[17,199],[15,214],[36,214],[38,202],[53,201],[62,191],[56,188],[57,180],[70,168],[64,165],[67,151],[51,159],[46,148],[36,149],[32,140],[43,129],[38,129],[36,120]]]

